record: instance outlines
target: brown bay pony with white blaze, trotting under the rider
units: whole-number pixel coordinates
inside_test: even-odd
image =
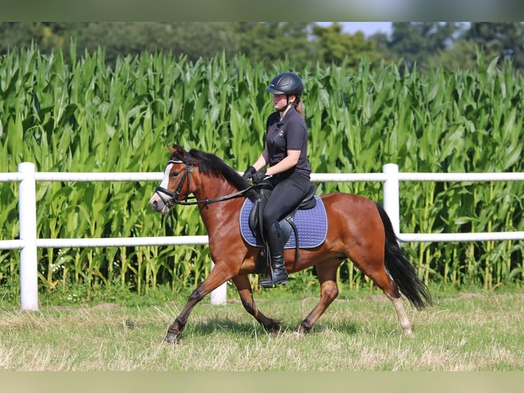
[[[167,214],[173,205],[197,204],[209,236],[209,251],[215,266],[209,276],[192,292],[164,340],[176,342],[193,307],[222,283],[232,280],[242,305],[266,331],[279,331],[280,322],[267,318],[253,301],[248,275],[255,271],[260,247],[247,244],[239,230],[239,214],[246,198],[257,198],[231,166],[210,153],[180,146],[171,152],[163,181],[149,203],[155,212]],[[187,201],[192,194],[196,201]],[[320,283],[320,300],[302,321],[299,333],[308,333],[318,318],[335,300],[337,269],[345,259],[367,275],[393,302],[404,333],[412,333],[412,323],[404,309],[401,294],[417,309],[431,303],[428,288],[417,277],[412,262],[399,247],[391,221],[376,202],[354,194],[335,192],[322,195],[328,216],[326,240],[313,249],[285,251],[288,272],[315,266]]]

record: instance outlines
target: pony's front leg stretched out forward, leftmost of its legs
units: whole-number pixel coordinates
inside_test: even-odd
[[[231,273],[225,271],[222,266],[215,264],[215,267],[213,270],[211,270],[209,276],[207,276],[207,279],[205,279],[200,284],[200,286],[198,286],[198,288],[196,288],[196,290],[194,290],[192,294],[189,295],[189,299],[187,299],[187,303],[185,303],[182,312],[179,314],[179,316],[176,317],[172,325],[168,328],[168,333],[166,334],[166,337],[163,338],[163,340],[166,342],[176,342],[179,340],[179,337],[187,322],[187,318],[189,317],[189,314],[191,314],[192,309],[195,307],[196,303],[201,301],[204,296],[209,294],[211,291],[215,290],[223,283],[228,281],[228,279],[231,279]]]

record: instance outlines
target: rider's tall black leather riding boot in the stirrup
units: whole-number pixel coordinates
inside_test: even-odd
[[[266,231],[267,245],[270,247],[271,273],[259,281],[259,286],[274,288],[278,284],[287,284],[287,272],[284,264],[284,246],[291,234],[291,227],[280,227],[278,223],[270,225]]]

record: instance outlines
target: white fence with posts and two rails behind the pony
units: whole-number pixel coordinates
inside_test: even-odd
[[[312,181],[381,181],[384,209],[393,229],[404,242],[458,242],[523,240],[524,231],[490,233],[399,233],[400,181],[523,181],[524,173],[399,173],[396,164],[386,164],[382,173],[313,173]],[[23,162],[18,173],[0,173],[0,181],[18,181],[20,238],[0,240],[0,249],[20,249],[21,309],[38,309],[37,249],[60,247],[161,246],[207,244],[207,236],[163,236],[139,238],[38,239],[36,237],[36,181],[160,181],[163,173],[55,173],[36,172],[34,164]],[[211,293],[211,303],[226,301],[226,284]]]

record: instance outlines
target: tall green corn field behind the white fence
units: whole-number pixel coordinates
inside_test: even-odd
[[[237,56],[189,62],[168,53],[122,57],[103,51],[42,55],[31,47],[0,58],[0,172],[34,162],[45,172],[159,172],[166,146],[215,153],[242,171],[263,147],[272,110],[267,70]],[[358,72],[308,66],[304,105],[315,173],[523,172],[524,79],[482,55],[475,70],[426,74],[363,60]],[[155,214],[151,182],[38,182],[38,238],[205,235],[196,207]],[[382,201],[380,183],[319,183],[318,193],[354,192]],[[18,184],[0,183],[0,239],[18,236]],[[524,231],[524,184],[405,182],[405,233]],[[524,284],[522,241],[406,244],[426,283],[491,289]],[[40,290],[118,285],[138,293],[159,284],[193,287],[209,273],[202,246],[39,249]],[[19,251],[0,250],[0,284],[19,282]],[[313,270],[296,273],[304,283]],[[369,280],[345,262],[341,286]]]

